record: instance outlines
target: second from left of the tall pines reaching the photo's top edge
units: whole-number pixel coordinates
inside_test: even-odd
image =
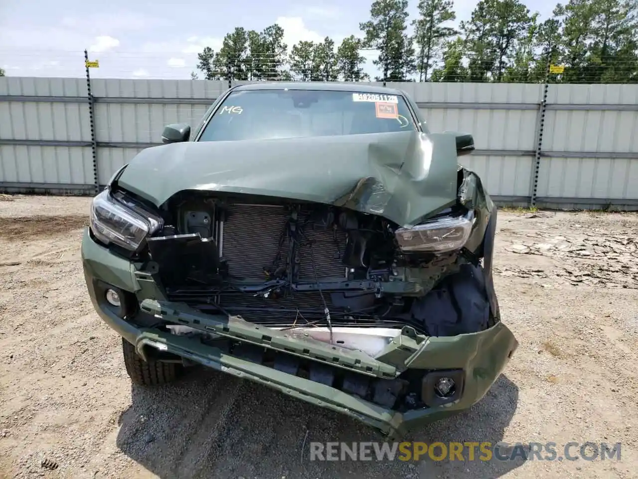
[[[434,66],[434,58],[457,31],[443,24],[456,19],[452,0],[420,0],[419,19],[413,20],[415,42],[419,45],[417,72],[419,81],[427,80],[427,73]]]

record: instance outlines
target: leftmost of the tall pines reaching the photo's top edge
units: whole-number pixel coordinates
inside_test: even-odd
[[[406,33],[408,0],[375,0],[370,17],[359,24],[365,33],[364,47],[378,50],[373,63],[380,67],[383,80],[405,80],[415,70],[412,39]]]

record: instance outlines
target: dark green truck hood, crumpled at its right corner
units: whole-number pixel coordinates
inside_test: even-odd
[[[416,131],[182,142],[141,151],[117,183],[157,206],[182,190],[285,197],[409,227],[457,198],[456,139]]]

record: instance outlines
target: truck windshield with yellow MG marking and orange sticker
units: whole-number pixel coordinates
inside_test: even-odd
[[[301,138],[415,130],[399,95],[331,90],[230,93],[199,141]]]

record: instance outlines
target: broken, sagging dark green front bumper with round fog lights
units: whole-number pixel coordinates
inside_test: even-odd
[[[364,353],[308,342],[246,321],[202,314],[186,305],[169,303],[150,275],[138,270],[141,265],[101,247],[91,239],[88,231],[85,231],[82,240],[82,261],[94,308],[108,326],[136,346],[140,356],[145,357],[147,347],[175,354],[212,369],[265,384],[316,406],[346,414],[393,437],[468,409],[478,402],[500,376],[518,346],[507,326],[497,323],[480,333],[431,337],[419,344],[401,335],[398,341],[401,344],[397,344],[396,349],[389,349],[371,358]],[[104,301],[103,285],[128,292],[131,298],[135,296],[134,300],[141,305],[140,312],[145,321],[122,319],[121,313],[108,307]],[[454,402],[399,413],[327,384],[288,374],[218,347],[149,327],[149,320],[155,323],[167,321],[188,324],[253,346],[304,356],[310,360],[333,361],[338,367],[355,370],[355,374],[376,378],[392,378],[404,370],[422,370],[424,374],[433,370],[462,370],[463,391]]]

